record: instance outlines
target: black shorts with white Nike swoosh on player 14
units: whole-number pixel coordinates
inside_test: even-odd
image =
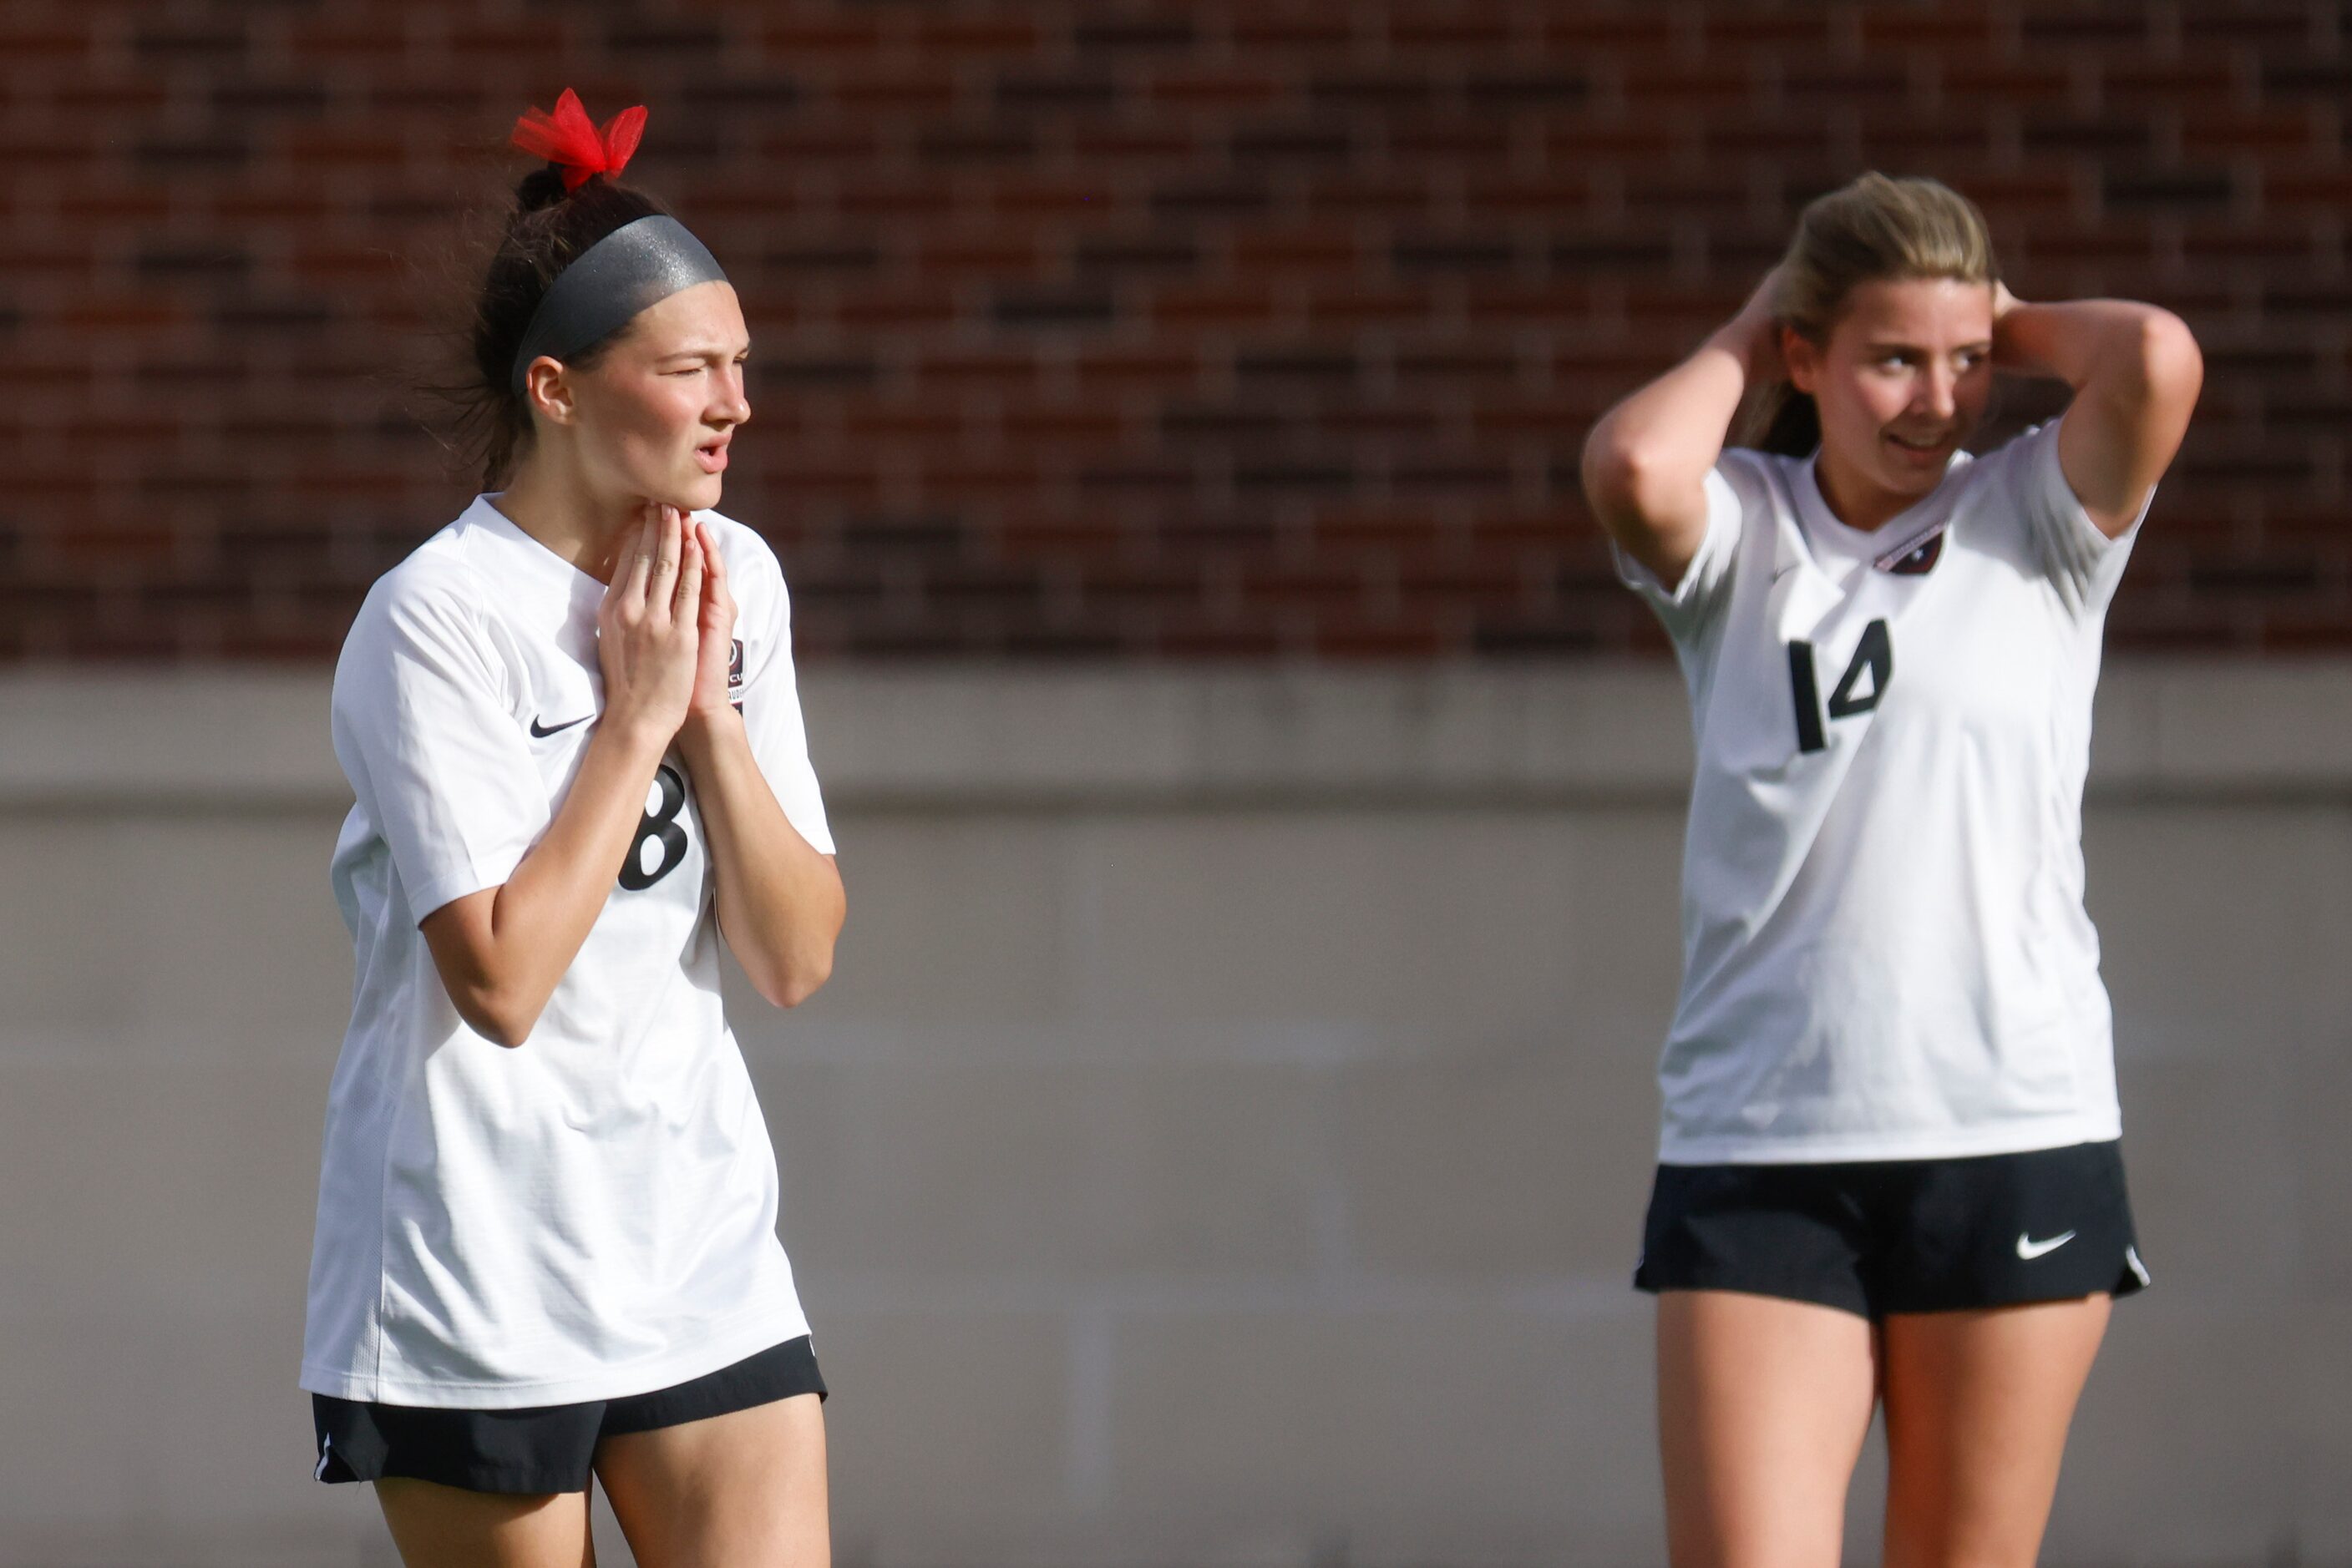
[[[1639,1291],[1889,1312],[2131,1295],[2147,1284],[2117,1143],[1973,1159],[1658,1166]]]

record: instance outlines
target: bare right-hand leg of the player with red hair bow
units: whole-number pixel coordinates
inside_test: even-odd
[[[640,1568],[828,1568],[826,1415],[795,1394],[597,1443]]]

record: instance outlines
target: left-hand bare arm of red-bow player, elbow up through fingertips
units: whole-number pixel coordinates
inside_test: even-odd
[[[546,837],[501,886],[419,924],[459,1018],[485,1039],[529,1039],[604,912],[694,689],[701,578],[701,548],[675,510],[656,510],[597,611],[604,712]]]

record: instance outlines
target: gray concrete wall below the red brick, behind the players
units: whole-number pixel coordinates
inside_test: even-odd
[[[1658,1561],[1625,1274],[1672,672],[807,696],[851,924],[816,1001],[736,1016],[840,1561]],[[2352,1561],[2345,712],[2338,665],[2107,677],[2091,898],[2159,1288],[2053,1563]],[[315,677],[0,682],[0,1563],[390,1561],[294,1389],[341,804]]]

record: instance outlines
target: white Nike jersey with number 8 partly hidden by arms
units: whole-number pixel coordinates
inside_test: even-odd
[[[715,512],[739,705],[793,827],[833,851],[767,543]],[[358,804],[334,893],[358,954],[334,1070],[301,1387],[515,1408],[670,1387],[807,1333],[776,1154],[720,1009],[694,785],[673,752],[532,1037],[459,1018],[416,924],[503,884],[604,708],[604,585],[489,496],[388,571],[343,639]],[[731,682],[734,684],[734,682]]]

